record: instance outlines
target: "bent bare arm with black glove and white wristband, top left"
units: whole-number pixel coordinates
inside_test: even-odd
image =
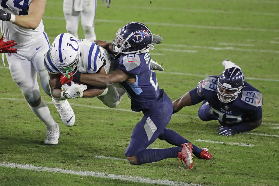
[[[13,15],[0,9],[0,19],[10,21],[23,28],[36,29],[44,15],[46,2],[47,0],[32,0],[29,5],[28,15],[23,16]]]

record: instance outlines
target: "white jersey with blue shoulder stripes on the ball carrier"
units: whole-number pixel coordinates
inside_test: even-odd
[[[109,54],[108,51],[100,47],[94,41],[85,39],[77,41],[81,50],[81,64],[78,66],[78,72],[83,74],[94,74],[98,73],[102,67],[105,67],[107,74],[113,71],[114,55]],[[51,74],[60,73],[53,65],[50,49],[44,55],[44,66]]]

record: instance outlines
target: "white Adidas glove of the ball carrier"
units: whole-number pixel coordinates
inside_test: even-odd
[[[81,98],[83,95],[83,91],[87,89],[86,85],[79,85],[77,83],[71,82],[71,86],[64,84],[62,85],[65,88],[65,91],[61,92],[61,97],[65,97],[66,99],[70,98]]]

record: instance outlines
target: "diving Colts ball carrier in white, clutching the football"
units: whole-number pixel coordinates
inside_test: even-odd
[[[76,40],[70,33],[58,35],[44,56],[44,65],[50,76],[52,97],[56,100],[97,97],[108,107],[114,108],[126,94],[122,87],[87,87],[73,79],[77,72],[108,74],[114,69],[114,58],[114,55],[109,54],[94,41]],[[65,84],[69,82],[71,86]],[[65,91],[61,90],[61,84]]]

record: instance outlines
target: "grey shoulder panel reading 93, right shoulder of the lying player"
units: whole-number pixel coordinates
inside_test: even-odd
[[[242,90],[241,100],[255,107],[262,106],[262,93],[257,91]]]

